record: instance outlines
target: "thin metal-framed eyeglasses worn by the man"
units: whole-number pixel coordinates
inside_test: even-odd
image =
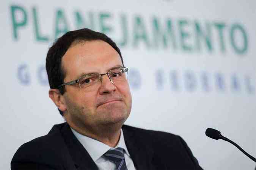
[[[99,85],[102,82],[102,76],[108,75],[109,80],[113,84],[119,84],[124,81],[127,81],[128,78],[128,68],[126,67],[119,67],[117,69],[113,69],[108,71],[107,73],[100,74],[100,73],[89,73],[86,75],[83,75],[79,77],[76,80],[69,81],[68,83],[63,83],[60,86],[58,86],[58,89],[62,86],[66,85],[72,85],[72,84],[79,84],[80,89],[83,89],[85,91],[92,91],[97,88],[97,85]],[[100,82],[100,83],[98,83]]]

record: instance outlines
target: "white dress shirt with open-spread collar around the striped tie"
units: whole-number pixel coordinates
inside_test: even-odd
[[[91,158],[99,168],[99,170],[115,170],[116,165],[113,162],[110,162],[103,154],[108,150],[112,150],[115,148],[123,148],[124,149],[124,159],[126,162],[126,166],[128,170],[135,170],[132,159],[130,158],[130,154],[127,150],[126,144],[124,142],[124,135],[121,129],[121,135],[118,144],[115,148],[112,148],[105,143],[99,142],[98,140],[92,139],[87,136],[83,136],[78,133],[74,129],[71,128],[71,131],[74,133],[75,137],[82,143],[83,147],[90,154]]]

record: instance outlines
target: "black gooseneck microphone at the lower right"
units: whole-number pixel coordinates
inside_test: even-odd
[[[250,154],[248,154],[246,151],[244,151],[241,147],[239,147],[239,145],[237,145],[235,142],[233,142],[232,140],[229,140],[228,138],[224,137],[221,135],[220,131],[216,130],[216,129],[212,129],[212,128],[207,128],[205,131],[206,136],[218,140],[218,139],[222,139],[225,140],[233,145],[235,145],[235,147],[237,147],[240,151],[242,151],[242,153],[244,153],[246,156],[248,156],[251,160],[253,160],[254,162],[256,162],[256,159],[251,156]]]

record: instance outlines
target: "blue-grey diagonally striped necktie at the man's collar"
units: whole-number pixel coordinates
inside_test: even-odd
[[[105,154],[105,157],[113,163],[116,164],[116,170],[127,170],[126,163],[124,160],[124,149],[116,148],[113,150],[108,150]]]

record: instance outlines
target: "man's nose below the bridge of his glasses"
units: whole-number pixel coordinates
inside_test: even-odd
[[[100,94],[110,94],[116,90],[116,85],[112,82],[110,77],[106,75],[102,75]]]

